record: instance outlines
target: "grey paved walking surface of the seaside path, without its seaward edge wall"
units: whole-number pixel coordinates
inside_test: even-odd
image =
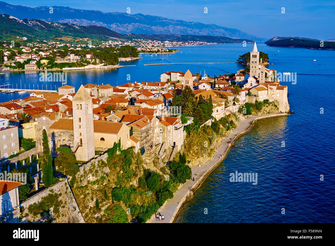
[[[179,209],[179,207],[181,206],[181,204],[179,204],[178,202],[180,202],[184,196],[189,192],[189,190],[192,188],[192,186],[201,178],[201,176],[208,170],[210,169],[213,165],[215,165],[218,160],[219,160],[219,156],[224,155],[224,153],[227,151],[227,149],[229,148],[230,145],[230,138],[235,138],[238,134],[248,130],[248,128],[252,125],[253,121],[256,118],[259,117],[264,117],[264,116],[271,116],[271,115],[287,115],[285,113],[269,113],[269,114],[263,114],[263,115],[259,115],[259,116],[250,116],[244,120],[240,121],[240,125],[237,126],[237,128],[235,128],[234,130],[232,130],[232,132],[229,134],[228,137],[224,138],[222,140],[222,144],[220,146],[220,149],[216,152],[215,156],[213,159],[211,159],[207,164],[202,165],[200,167],[198,166],[193,166],[191,167],[192,169],[192,178],[195,178],[195,181],[193,182],[191,179],[188,179],[186,181],[186,183],[184,183],[182,185],[182,187],[180,189],[178,189],[174,195],[172,199],[167,199],[167,202],[165,204],[165,207],[163,210],[158,211],[159,214],[164,215],[164,221],[159,221],[156,219],[153,219],[151,222],[152,223],[171,223],[173,221],[173,217],[175,212]],[[223,159],[221,159],[223,161]],[[194,175],[197,174],[197,175]]]

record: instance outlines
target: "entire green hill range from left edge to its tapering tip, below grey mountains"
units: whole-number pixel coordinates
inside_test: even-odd
[[[18,19],[16,17],[0,14],[0,40],[14,40],[16,36],[27,37],[26,42],[36,40],[79,42],[87,44],[88,40],[106,41],[110,39],[131,40],[151,39],[161,41],[201,41],[209,43],[242,43],[248,39],[232,39],[229,37],[197,36],[197,35],[164,35],[164,34],[120,34],[103,26],[75,25],[57,23],[38,19]],[[88,40],[86,40],[87,38]],[[83,40],[85,39],[85,40]],[[96,43],[92,43],[96,45]]]

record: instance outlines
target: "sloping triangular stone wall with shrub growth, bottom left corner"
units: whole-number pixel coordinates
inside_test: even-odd
[[[27,200],[21,203],[21,207],[24,207],[24,211],[21,210],[20,222],[29,223],[29,222],[46,222],[47,217],[33,218],[28,212],[28,207],[30,204],[40,202],[43,197],[49,194],[61,193],[59,200],[62,201],[60,207],[59,217],[55,218],[54,223],[85,223],[84,219],[79,211],[77,202],[72,194],[71,188],[69,186],[67,179],[61,179],[57,184],[50,186],[36,195],[31,196]],[[65,206],[64,208],[63,205]],[[53,218],[53,217],[52,217]]]

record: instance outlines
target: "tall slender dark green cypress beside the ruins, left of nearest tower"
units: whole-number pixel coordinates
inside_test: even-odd
[[[48,136],[47,132],[44,129],[43,130],[43,178],[42,181],[44,183],[45,187],[49,187],[52,185],[52,158],[50,154],[50,149],[49,149],[49,143],[48,143]]]

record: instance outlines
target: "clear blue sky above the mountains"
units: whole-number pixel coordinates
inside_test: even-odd
[[[6,1],[28,7],[68,6],[77,9],[103,12],[142,13],[185,21],[236,28],[250,34],[271,38],[273,36],[299,36],[320,40],[335,39],[335,1],[217,1],[217,0],[33,0]],[[204,8],[208,13],[204,13]],[[281,13],[285,8],[285,13]]]

